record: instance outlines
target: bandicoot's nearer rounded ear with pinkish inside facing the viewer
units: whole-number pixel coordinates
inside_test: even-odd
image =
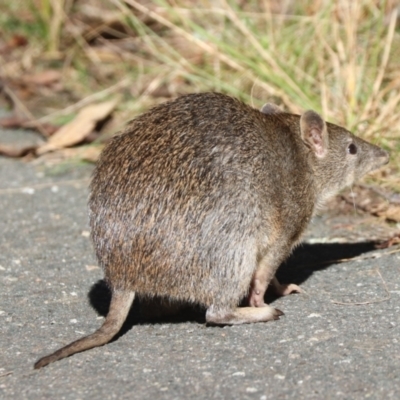
[[[308,110],[300,118],[301,138],[318,158],[328,152],[329,138],[325,121],[315,111]]]

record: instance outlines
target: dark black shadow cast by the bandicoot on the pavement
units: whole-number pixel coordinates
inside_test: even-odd
[[[375,244],[375,242],[306,243],[296,248],[289,259],[280,266],[276,276],[281,283],[301,285],[314,271],[326,269],[338,260],[372,251],[375,249]],[[107,315],[111,291],[104,280],[99,280],[91,287],[88,298],[91,306],[99,315]],[[276,299],[277,296],[273,291],[268,290],[267,303],[272,303]],[[205,308],[193,304],[172,302],[163,298],[135,298],[128,317],[114,340],[124,335],[136,324],[188,321],[205,323]]]

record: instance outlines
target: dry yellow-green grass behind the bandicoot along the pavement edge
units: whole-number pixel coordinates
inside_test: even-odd
[[[125,95],[123,121],[165,98],[217,90],[256,107],[272,101],[296,113],[314,109],[389,149],[399,170],[397,1],[25,3],[31,7],[22,14],[0,6],[4,32],[31,29],[19,59],[0,56],[0,74],[12,80],[33,68],[62,70],[67,100],[55,104],[50,95],[31,110],[43,120],[116,92]],[[387,171],[379,179],[400,191]]]

